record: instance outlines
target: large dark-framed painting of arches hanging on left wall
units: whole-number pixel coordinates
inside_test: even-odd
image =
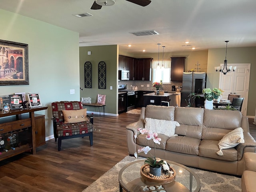
[[[28,44],[0,40],[0,86],[29,85]]]

